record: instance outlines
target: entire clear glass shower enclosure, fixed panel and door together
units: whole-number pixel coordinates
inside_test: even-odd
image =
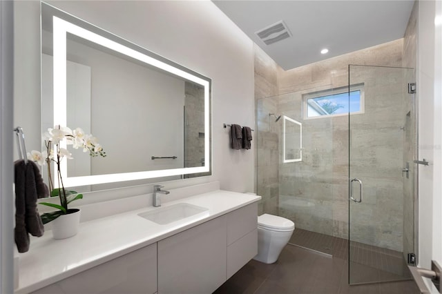
[[[355,65],[346,85],[257,100],[260,213],[294,221],[289,244],[344,259],[349,284],[410,278],[409,253],[416,252],[412,82],[410,68]]]

